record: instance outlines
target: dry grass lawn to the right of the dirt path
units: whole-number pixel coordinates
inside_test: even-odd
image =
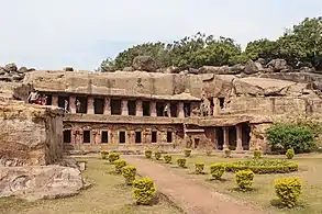
[[[236,184],[234,181],[234,173],[225,172],[223,174],[223,181],[210,180],[209,167],[211,164],[215,162],[226,162],[226,161],[237,161],[244,158],[224,158],[219,156],[192,156],[187,158],[188,168],[180,169],[177,167],[176,159],[178,156],[173,156],[173,165],[167,165],[168,168],[180,176],[185,176],[189,179],[197,180],[203,184],[211,187],[219,192],[230,194],[234,198],[248,201],[255,204],[259,204],[271,211],[273,213],[290,213],[290,214],[321,214],[322,213],[322,155],[311,154],[296,156],[291,161],[299,164],[299,171],[285,174],[255,174],[254,190],[251,192],[240,192],[235,190]],[[193,174],[195,162],[204,162],[204,172],[207,174]],[[165,165],[165,164],[163,164]],[[275,195],[275,190],[273,182],[277,178],[281,177],[298,177],[303,182],[303,191],[299,201],[299,205],[296,209],[277,209],[271,206],[276,204],[277,196]]]

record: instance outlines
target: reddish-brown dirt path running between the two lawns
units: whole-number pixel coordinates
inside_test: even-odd
[[[156,188],[166,194],[185,213],[188,214],[264,214],[265,212],[252,204],[240,202],[229,195],[175,174],[165,166],[135,156],[125,159],[136,166],[137,173],[153,178]]]

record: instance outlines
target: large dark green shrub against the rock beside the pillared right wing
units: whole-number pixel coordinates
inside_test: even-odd
[[[306,125],[274,124],[266,129],[266,136],[273,150],[279,145],[284,153],[289,148],[296,153],[307,153],[315,147],[313,132]]]

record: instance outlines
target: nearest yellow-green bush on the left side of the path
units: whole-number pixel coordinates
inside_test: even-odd
[[[133,181],[133,194],[137,204],[151,204],[156,189],[151,178],[142,178]]]

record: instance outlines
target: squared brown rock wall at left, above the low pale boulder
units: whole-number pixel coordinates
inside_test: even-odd
[[[44,166],[63,158],[63,112],[0,102],[0,166]]]

